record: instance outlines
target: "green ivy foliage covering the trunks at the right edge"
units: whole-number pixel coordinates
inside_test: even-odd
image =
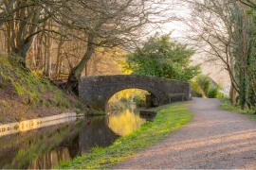
[[[256,13],[255,8],[245,13],[234,10],[231,15],[236,25],[237,45],[232,50],[235,59],[235,78],[239,89],[239,105],[242,109],[256,107]],[[232,20],[231,22],[234,23]]]

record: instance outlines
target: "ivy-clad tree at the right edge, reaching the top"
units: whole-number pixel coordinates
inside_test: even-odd
[[[235,55],[241,55],[241,52],[245,54],[246,52],[246,57],[241,55],[243,58],[238,58],[237,67],[240,86],[243,87],[240,92],[240,99],[241,107],[244,109],[246,104],[248,108],[256,107],[256,2],[251,0],[240,0],[240,2],[249,7],[246,15],[248,19],[241,16],[237,18],[239,26],[235,29],[238,33],[243,32],[243,30],[246,31],[248,36],[247,50],[240,48],[240,50],[235,51]]]

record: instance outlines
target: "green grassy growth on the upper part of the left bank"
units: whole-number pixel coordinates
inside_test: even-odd
[[[12,87],[14,94],[22,98],[23,104],[36,107],[57,106],[60,108],[70,107],[70,101],[64,96],[64,93],[52,85],[50,81],[39,73],[32,75],[13,57],[0,57],[0,88]],[[44,99],[44,93],[53,93],[53,97]]]

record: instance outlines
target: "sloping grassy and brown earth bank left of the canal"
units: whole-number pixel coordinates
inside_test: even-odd
[[[38,75],[0,57],[0,124],[82,110],[76,97]]]

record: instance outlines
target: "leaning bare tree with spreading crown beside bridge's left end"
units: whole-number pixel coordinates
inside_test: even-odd
[[[97,47],[131,45],[147,33],[145,29],[142,31],[143,26],[164,22],[161,14],[170,7],[164,1],[155,0],[82,0],[68,1],[66,6],[56,22],[86,35],[87,42],[81,61],[68,76],[65,89],[69,92],[77,87],[82,70]]]

